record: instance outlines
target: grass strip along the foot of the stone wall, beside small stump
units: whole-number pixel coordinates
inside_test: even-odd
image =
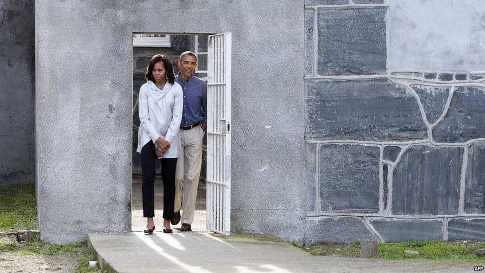
[[[379,258],[389,260],[482,260],[474,250],[485,248],[485,241],[407,241],[379,243]],[[360,243],[350,245],[318,245],[304,247],[315,256],[360,257]],[[419,255],[405,254],[405,250],[417,251]]]

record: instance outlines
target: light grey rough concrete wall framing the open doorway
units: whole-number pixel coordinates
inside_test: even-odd
[[[303,8],[293,0],[36,1],[42,239],[130,229],[132,31],[232,32],[232,227],[303,242]]]

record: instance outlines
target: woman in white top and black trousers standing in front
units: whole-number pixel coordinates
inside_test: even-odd
[[[145,74],[147,83],[140,88],[138,111],[138,149],[142,162],[143,217],[147,217],[145,233],[155,230],[153,217],[154,182],[157,159],[162,163],[163,232],[171,233],[175,199],[175,167],[180,150],[179,126],[182,119],[182,88],[174,82],[175,75],[168,57],[153,56]]]

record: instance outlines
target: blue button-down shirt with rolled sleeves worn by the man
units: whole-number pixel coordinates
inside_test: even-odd
[[[183,91],[183,112],[180,125],[207,123],[207,83],[193,75],[184,81],[180,74],[175,76],[175,83],[179,84]]]

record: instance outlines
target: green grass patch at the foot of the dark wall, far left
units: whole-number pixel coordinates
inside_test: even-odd
[[[0,187],[0,231],[39,229],[33,184]]]

